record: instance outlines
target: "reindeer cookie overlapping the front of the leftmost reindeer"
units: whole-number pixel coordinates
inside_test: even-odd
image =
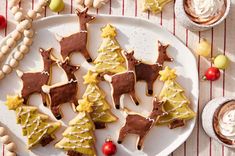
[[[60,112],[60,106],[64,103],[71,103],[73,110],[76,111],[78,106],[78,82],[74,73],[80,68],[80,66],[73,66],[69,64],[69,59],[66,58],[64,62],[59,62],[58,65],[65,71],[68,82],[58,83],[53,86],[44,85],[42,90],[48,94],[48,106],[51,109],[56,119],[62,118]]]

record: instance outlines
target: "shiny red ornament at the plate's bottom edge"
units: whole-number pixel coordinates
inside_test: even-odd
[[[110,140],[105,140],[105,143],[102,146],[102,152],[105,156],[112,156],[116,153],[117,147],[116,145]]]

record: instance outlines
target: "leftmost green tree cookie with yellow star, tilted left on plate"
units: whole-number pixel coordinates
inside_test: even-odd
[[[40,143],[42,146],[54,140],[53,133],[60,127],[60,122],[47,122],[48,116],[40,114],[37,107],[23,105],[18,96],[7,96],[6,105],[16,112],[16,120],[22,125],[23,136],[27,136],[28,148]]]

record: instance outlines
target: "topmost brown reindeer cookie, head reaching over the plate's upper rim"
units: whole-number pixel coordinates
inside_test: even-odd
[[[67,37],[58,38],[61,47],[61,56],[63,59],[70,56],[73,52],[80,52],[88,62],[92,62],[92,59],[87,51],[87,23],[95,19],[94,16],[87,14],[88,9],[84,9],[82,12],[76,11],[80,23],[80,32],[72,34]],[[58,37],[58,36],[57,36]]]

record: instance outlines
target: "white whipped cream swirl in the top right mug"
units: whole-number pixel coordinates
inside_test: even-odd
[[[192,10],[200,18],[217,16],[225,6],[224,0],[192,0]]]

